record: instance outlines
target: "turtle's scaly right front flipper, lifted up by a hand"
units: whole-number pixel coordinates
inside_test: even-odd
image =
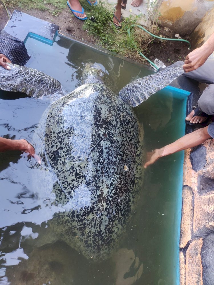
[[[151,95],[169,85],[183,74],[183,66],[169,67],[154,74],[139,78],[127,84],[119,92],[119,97],[132,107],[140,105]]]

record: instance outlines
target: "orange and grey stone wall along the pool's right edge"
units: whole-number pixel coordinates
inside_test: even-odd
[[[185,151],[180,285],[214,284],[214,142]]]

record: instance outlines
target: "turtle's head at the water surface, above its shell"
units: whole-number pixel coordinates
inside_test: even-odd
[[[94,63],[87,63],[83,72],[82,72],[82,82],[86,83],[101,83],[103,84],[104,73],[101,67]]]

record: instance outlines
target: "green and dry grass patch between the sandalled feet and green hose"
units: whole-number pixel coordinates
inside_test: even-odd
[[[112,21],[114,15],[113,6],[111,7],[109,4],[109,9],[107,9],[102,2],[99,2],[99,5],[95,7],[88,7],[84,0],[80,0],[80,3],[88,18],[92,16],[94,18],[94,21],[85,21],[83,29],[87,30],[89,35],[93,35],[98,39],[98,45],[138,62],[144,62],[138,51],[146,56],[150,50],[150,43],[153,38],[137,27],[131,29],[130,36],[127,33],[130,26],[136,23],[138,16],[123,19],[122,28],[119,29]],[[134,43],[138,50],[136,50]]]

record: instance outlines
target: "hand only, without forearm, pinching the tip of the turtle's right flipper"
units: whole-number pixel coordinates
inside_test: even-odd
[[[184,61],[183,70],[185,72],[189,72],[199,68],[199,66],[202,66],[205,63],[209,55],[210,53],[207,52],[203,46],[194,49],[192,52],[187,54]]]

